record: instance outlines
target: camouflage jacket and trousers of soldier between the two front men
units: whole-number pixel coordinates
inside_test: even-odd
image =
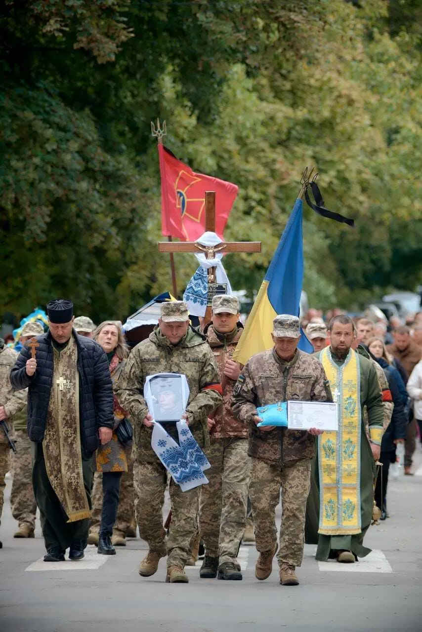
[[[215,411],[210,430],[211,446],[206,453],[211,468],[206,473],[208,485],[201,487],[199,526],[206,554],[220,557],[220,564],[235,561],[246,526],[251,467],[247,455],[248,429],[233,416],[230,403],[235,381],[223,373],[242,331],[240,323],[235,332],[227,335],[216,332],[212,324],[204,330],[220,372],[223,404]]]

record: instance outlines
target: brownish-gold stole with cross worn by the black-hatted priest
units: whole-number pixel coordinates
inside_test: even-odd
[[[61,353],[53,346],[53,383],[42,442],[47,476],[68,522],[90,518],[82,473],[77,359],[73,336]]]

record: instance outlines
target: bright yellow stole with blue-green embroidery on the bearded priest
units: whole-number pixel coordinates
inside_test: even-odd
[[[350,349],[338,367],[330,347],[320,362],[338,404],[338,432],[318,437],[320,528],[324,535],[361,533],[361,379],[359,359]]]

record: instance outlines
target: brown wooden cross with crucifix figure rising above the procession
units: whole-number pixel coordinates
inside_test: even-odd
[[[205,231],[215,233],[215,191],[205,193]],[[199,241],[180,241],[178,243],[159,241],[159,252],[204,253],[207,259],[214,259],[218,252],[261,252],[261,241],[221,241],[215,245],[202,245]],[[216,267],[208,268],[208,305],[218,291]]]

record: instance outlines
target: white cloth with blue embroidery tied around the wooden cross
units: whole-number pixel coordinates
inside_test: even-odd
[[[201,244],[201,246],[218,246],[219,243],[223,243],[223,240],[221,240],[216,233],[211,233],[210,231],[202,234],[196,241]],[[198,254],[195,253],[195,257],[201,265],[187,284],[187,288],[183,294],[183,301],[185,301],[190,314],[193,316],[205,316],[208,305],[207,270],[211,267],[216,268],[216,283],[227,285],[227,294],[232,293],[232,286],[230,285],[226,270],[221,262],[223,258],[222,253],[216,253],[213,259],[207,259],[202,252]]]

